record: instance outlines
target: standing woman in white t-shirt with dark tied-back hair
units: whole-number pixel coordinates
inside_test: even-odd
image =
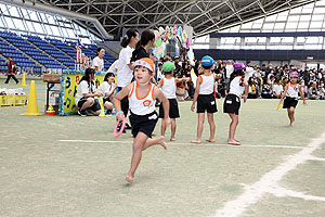
[[[118,64],[117,64],[117,89],[120,91],[123,87],[131,84],[133,78],[133,63],[131,62],[132,52],[139,41],[139,31],[131,28],[127,31],[121,40],[121,51],[119,52]],[[129,111],[129,99],[128,95],[121,100],[121,111],[125,116],[128,115]],[[128,127],[126,128],[128,129]]]

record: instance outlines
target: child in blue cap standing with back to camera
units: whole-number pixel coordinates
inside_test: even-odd
[[[211,74],[211,69],[214,66],[214,61],[211,56],[205,55],[200,64],[204,68],[204,74],[200,75],[196,79],[196,88],[194,93],[193,103],[191,106],[191,111],[194,112],[195,103],[197,101],[196,113],[198,117],[197,122],[197,138],[196,140],[192,140],[192,143],[200,143],[202,132],[204,129],[205,123],[205,112],[207,111],[208,122],[210,125],[210,138],[206,141],[214,142],[214,132],[216,132],[216,125],[213,120],[213,113],[217,111],[217,103],[213,94],[213,86],[216,77]]]

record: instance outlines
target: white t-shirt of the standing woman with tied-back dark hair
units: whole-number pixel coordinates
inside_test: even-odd
[[[128,86],[133,78],[133,72],[128,66],[128,64],[130,64],[133,50],[133,48],[128,46],[127,48],[121,49],[119,52],[116,80],[117,87]]]

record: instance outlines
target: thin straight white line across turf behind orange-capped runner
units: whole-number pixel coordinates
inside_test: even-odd
[[[128,143],[132,144],[133,140],[127,141],[114,141],[114,140],[57,140],[58,142],[69,142],[69,143]],[[229,144],[217,144],[217,143],[203,143],[195,144],[190,142],[168,142],[168,145],[193,145],[193,146],[229,146],[229,148],[278,148],[278,149],[303,149],[310,146],[291,146],[291,145],[253,145],[253,144],[242,144],[242,145],[229,145]]]

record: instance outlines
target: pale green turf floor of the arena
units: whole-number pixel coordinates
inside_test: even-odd
[[[3,82],[0,79],[0,87],[21,87]],[[46,84],[36,80],[36,88],[43,112]],[[0,216],[211,216],[240,195],[246,184],[301,150],[286,146],[307,146],[325,131],[325,101],[308,101],[308,106],[299,101],[295,126],[288,127],[286,111],[275,112],[277,100],[248,100],[242,103],[236,132],[243,145],[230,146],[230,118],[218,100],[216,145],[193,145],[197,116],[191,103],[179,103],[177,142],[169,142],[168,151],[145,151],[132,184],[125,181],[132,139],[129,132],[113,137],[114,117],[27,117],[18,116],[26,106],[0,107]],[[159,130],[160,122],[155,132]],[[203,139],[208,136],[206,122]],[[325,150],[314,155],[324,157]],[[324,165],[299,165],[281,184],[325,196]],[[324,216],[320,207],[325,202],[264,194],[243,216]]]

